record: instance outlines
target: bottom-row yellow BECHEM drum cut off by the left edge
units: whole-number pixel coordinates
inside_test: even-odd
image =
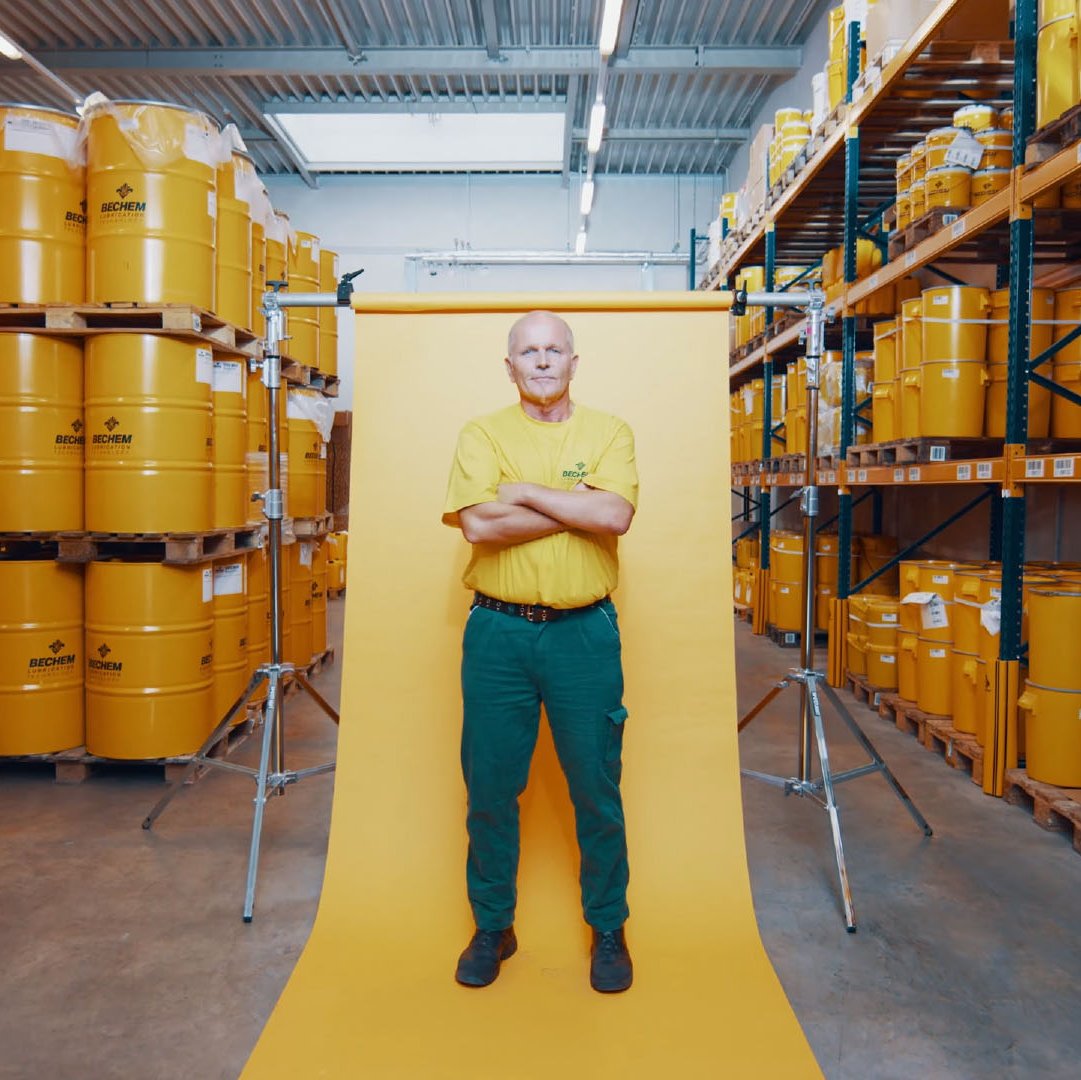
[[[0,755],[83,743],[82,566],[0,561]]]

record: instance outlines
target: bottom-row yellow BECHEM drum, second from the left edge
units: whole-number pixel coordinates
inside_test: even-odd
[[[191,754],[214,726],[214,570],[86,566],[86,749]]]

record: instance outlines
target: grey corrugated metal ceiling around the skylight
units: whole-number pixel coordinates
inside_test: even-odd
[[[585,164],[601,6],[600,0],[5,0],[0,32],[83,93],[182,102],[236,122],[266,173],[298,171],[263,116],[266,103],[286,102],[552,105],[568,110],[576,133],[564,161],[573,173]],[[824,6],[825,0],[625,0],[597,171],[723,170],[758,103],[798,64],[792,46]],[[750,52],[732,58],[730,46]],[[213,53],[218,49],[227,51]],[[0,98],[68,104],[29,67],[4,59]]]

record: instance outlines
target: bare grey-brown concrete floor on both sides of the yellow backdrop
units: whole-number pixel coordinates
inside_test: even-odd
[[[331,604],[335,644],[342,612]],[[742,624],[736,641],[746,708],[796,655]],[[317,682],[335,703],[339,675]],[[793,771],[787,693],[742,736],[748,766]],[[334,747],[301,701],[294,766]],[[858,933],[841,922],[825,815],[744,786],[762,936],[826,1076],[1077,1077],[1081,858],[865,707],[854,714],[936,830],[924,840],[881,777],[844,785]],[[830,726],[835,768],[859,763]],[[64,787],[0,766],[0,1077],[235,1078],[315,917],[331,785],[315,777],[268,806],[244,925],[249,781],[205,777],[147,834],[162,785],[142,770]]]

